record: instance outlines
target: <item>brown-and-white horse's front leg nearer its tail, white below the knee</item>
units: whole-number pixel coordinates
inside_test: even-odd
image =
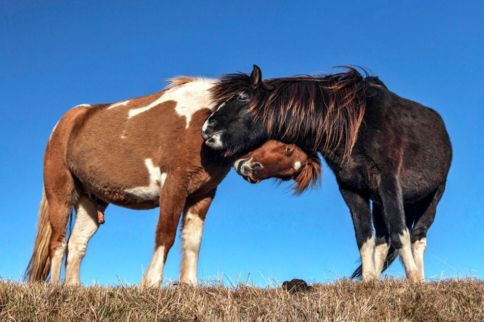
[[[176,237],[176,228],[187,197],[186,184],[182,178],[168,174],[159,197],[159,219],[156,225],[155,251],[146,274],[141,280],[143,286],[160,286],[163,281],[163,268],[168,252]]]

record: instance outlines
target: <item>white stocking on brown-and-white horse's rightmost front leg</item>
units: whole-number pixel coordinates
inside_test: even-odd
[[[183,229],[181,230],[181,259],[180,281],[196,285],[198,254],[202,243],[202,232],[204,221],[190,210],[183,218]]]

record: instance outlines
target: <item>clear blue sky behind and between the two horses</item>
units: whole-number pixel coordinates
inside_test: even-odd
[[[0,2],[0,276],[17,280],[29,261],[45,144],[70,107],[154,93],[174,75],[215,77],[257,64],[268,78],[356,64],[442,115],[454,157],[428,232],[426,276],[482,278],[483,13],[481,1]],[[265,285],[351,274],[353,224],[325,172],[318,191],[293,197],[232,170],[207,216],[199,277],[250,273]],[[81,278],[138,283],[157,218],[157,209],[110,206]],[[178,250],[177,239],[166,278],[178,278]],[[390,272],[401,276],[401,264]]]

